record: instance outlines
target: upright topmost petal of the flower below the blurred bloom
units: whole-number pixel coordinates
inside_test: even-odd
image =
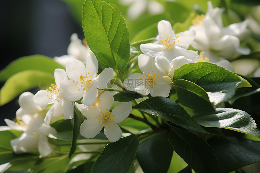
[[[98,61],[94,53],[90,53],[86,59],[86,72],[96,77],[98,72]]]

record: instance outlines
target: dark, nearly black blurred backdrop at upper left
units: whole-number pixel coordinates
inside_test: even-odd
[[[22,56],[65,55],[71,34],[84,38],[81,26],[60,0],[1,0],[0,16],[0,70]],[[0,88],[3,85],[0,82]],[[0,125],[6,125],[5,118],[13,119],[18,108],[18,98],[1,106]]]

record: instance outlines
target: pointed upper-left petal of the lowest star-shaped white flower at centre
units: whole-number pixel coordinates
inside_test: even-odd
[[[97,107],[94,106],[86,106],[85,104],[78,104],[75,103],[76,107],[79,109],[79,111],[87,118],[87,119],[98,119],[99,114],[101,112]]]

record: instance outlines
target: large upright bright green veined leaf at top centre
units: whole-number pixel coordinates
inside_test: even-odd
[[[120,74],[129,61],[130,43],[119,8],[100,0],[86,0],[82,24],[88,46],[99,63]]]

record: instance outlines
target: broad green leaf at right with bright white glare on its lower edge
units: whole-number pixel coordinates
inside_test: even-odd
[[[174,71],[174,82],[185,79],[207,91],[214,105],[231,98],[237,87],[251,87],[250,83],[221,66],[210,62],[184,64]]]

